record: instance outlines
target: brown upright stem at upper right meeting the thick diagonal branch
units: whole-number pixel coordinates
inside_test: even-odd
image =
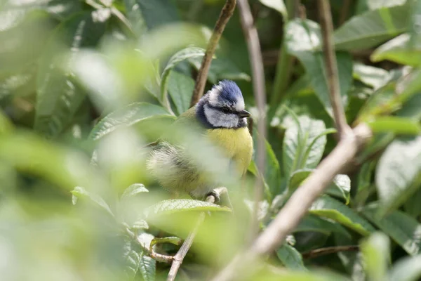
[[[340,86],[338,78],[338,66],[336,65],[336,54],[333,47],[333,24],[332,15],[330,14],[330,4],[328,0],[319,0],[319,13],[321,30],[323,34],[323,53],[326,65],[328,89],[330,104],[333,109],[333,117],[335,119],[336,129],[340,138],[351,131],[345,117],[345,110],[342,105],[340,96]]]

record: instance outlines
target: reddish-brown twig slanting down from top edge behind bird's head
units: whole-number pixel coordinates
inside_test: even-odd
[[[195,105],[201,96],[203,96],[206,79],[208,78],[210,62],[212,61],[213,54],[215,53],[216,46],[218,46],[222,32],[224,32],[225,25],[227,25],[229,18],[231,18],[232,14],[234,13],[235,4],[236,0],[227,0],[224,7],[222,8],[218,20],[216,21],[213,34],[209,39],[208,48],[206,49],[206,53],[203,56],[199,72],[197,73],[196,84],[194,85],[190,106]]]

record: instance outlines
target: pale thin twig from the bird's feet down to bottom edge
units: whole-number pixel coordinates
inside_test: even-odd
[[[213,203],[215,202],[215,197],[212,195],[206,198],[206,202]],[[171,264],[170,272],[168,273],[167,281],[175,280],[175,276],[180,269],[181,263],[184,260],[187,252],[189,251],[190,247],[192,247],[194,237],[196,237],[197,231],[199,230],[201,224],[205,220],[206,212],[201,212],[199,214],[199,218],[197,218],[196,225],[194,226],[192,232],[189,233],[184,243],[182,243],[180,249],[178,249],[177,254],[173,257],[173,264]]]

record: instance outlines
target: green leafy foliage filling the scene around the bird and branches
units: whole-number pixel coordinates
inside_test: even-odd
[[[268,100],[261,228],[337,143],[317,4],[298,2],[249,1]],[[144,146],[189,108],[203,48],[223,4],[0,1],[3,280],[165,279],[168,264],[156,263],[145,248],[159,243],[154,237],[171,237],[155,248],[175,254],[178,237],[186,237],[203,210],[212,215],[179,280],[214,275],[246,242],[254,162],[250,184],[231,182],[235,218],[214,204],[168,201],[144,166]],[[418,280],[421,2],[330,4],[347,121],[369,124],[373,140],[249,279]],[[220,79],[239,84],[256,119],[238,11],[222,36],[206,89]],[[194,143],[193,136],[175,138],[190,139],[198,159],[218,166],[211,148]],[[354,250],[340,251],[342,246]],[[335,252],[315,256],[325,247]]]

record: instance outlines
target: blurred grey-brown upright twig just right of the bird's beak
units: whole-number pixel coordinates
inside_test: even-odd
[[[251,63],[251,72],[253,77],[253,92],[255,103],[258,105],[258,171],[260,175],[265,174],[265,138],[266,138],[266,121],[265,121],[265,105],[266,105],[266,89],[265,89],[265,72],[263,70],[262,51],[260,50],[260,42],[258,30],[253,25],[253,15],[247,0],[239,0],[239,13],[241,19],[241,27],[243,27],[244,36],[246,37],[248,56]],[[258,210],[259,202],[262,200],[263,184],[261,178],[256,179],[255,184],[255,205],[253,209],[253,218],[251,223],[251,239],[253,241],[258,234]]]

